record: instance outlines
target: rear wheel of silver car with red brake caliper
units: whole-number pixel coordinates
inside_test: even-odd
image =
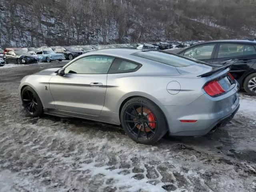
[[[137,143],[154,144],[167,132],[164,114],[147,98],[128,100],[122,107],[120,120],[126,134]]]

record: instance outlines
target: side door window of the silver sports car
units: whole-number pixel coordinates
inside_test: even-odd
[[[65,68],[65,73],[107,74],[114,61],[108,56],[87,56],[80,58]]]

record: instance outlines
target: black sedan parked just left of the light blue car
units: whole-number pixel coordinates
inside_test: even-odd
[[[14,64],[30,64],[38,62],[36,56],[31,55],[26,51],[9,51],[4,56],[4,60],[6,63]]]

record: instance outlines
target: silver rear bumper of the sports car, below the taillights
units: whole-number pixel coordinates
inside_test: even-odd
[[[216,98],[203,94],[188,105],[164,106],[164,111],[167,110],[169,134],[173,136],[202,136],[215,126],[224,126],[239,109],[237,91],[236,87]],[[197,122],[182,123],[180,120],[197,120]]]

